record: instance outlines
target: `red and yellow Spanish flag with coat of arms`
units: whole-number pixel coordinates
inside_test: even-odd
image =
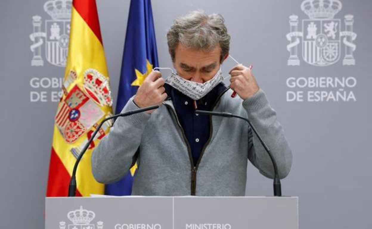
[[[71,3],[70,3],[71,4]],[[68,6],[65,6],[68,9]],[[97,125],[112,115],[112,98],[95,0],[74,0],[63,95],[55,115],[47,196],[67,196],[76,158]],[[77,169],[76,196],[103,194],[92,174],[90,157],[109,132],[102,125]]]

